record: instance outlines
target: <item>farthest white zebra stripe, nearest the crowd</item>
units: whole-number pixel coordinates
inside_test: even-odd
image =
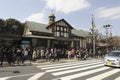
[[[77,61],[77,62],[69,62],[69,63],[60,63],[60,64],[48,64],[48,65],[42,65],[42,66],[37,66],[38,68],[45,68],[45,67],[52,67],[52,66],[60,66],[60,65],[67,65],[67,64],[75,64],[75,63],[86,63],[86,62],[95,62],[95,60],[86,60],[86,61]],[[102,60],[97,60],[97,62],[102,61]]]

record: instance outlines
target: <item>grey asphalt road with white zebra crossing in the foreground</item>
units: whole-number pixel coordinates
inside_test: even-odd
[[[120,68],[102,59],[0,68],[0,80],[120,80]]]

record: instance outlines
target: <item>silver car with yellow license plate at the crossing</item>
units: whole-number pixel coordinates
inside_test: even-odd
[[[104,65],[120,67],[120,50],[113,50],[105,55]]]

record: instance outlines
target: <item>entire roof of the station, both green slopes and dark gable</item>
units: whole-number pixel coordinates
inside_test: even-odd
[[[59,22],[59,21],[64,21],[68,26],[70,26],[72,28],[72,34],[75,36],[88,37],[90,35],[90,32],[88,32],[88,31],[73,29],[73,27],[71,25],[69,25],[64,19],[58,20],[57,22]],[[55,22],[55,23],[57,23],[57,22]],[[32,21],[26,21],[25,23],[30,31],[52,33],[46,28],[46,27],[48,27],[47,24],[37,23],[37,22],[32,22]],[[53,25],[53,24],[51,24],[51,25]]]

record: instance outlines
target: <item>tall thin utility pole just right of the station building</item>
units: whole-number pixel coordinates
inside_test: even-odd
[[[95,34],[95,28],[96,28],[96,26],[95,26],[95,22],[94,22],[94,17],[93,17],[93,14],[92,14],[92,27],[91,27],[91,31],[92,31],[92,38],[93,38],[93,57],[95,57],[95,53],[96,53],[96,46],[95,46],[95,44],[96,44],[96,39],[95,39],[95,36],[96,36],[96,34]]]

